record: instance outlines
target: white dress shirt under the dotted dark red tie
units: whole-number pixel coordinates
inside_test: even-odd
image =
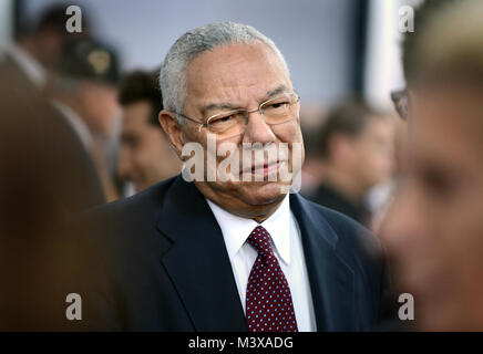
[[[317,331],[300,230],[290,211],[289,196],[287,195],[278,209],[261,223],[235,216],[208,199],[206,201],[222,229],[244,311],[246,311],[248,277],[258,256],[246,240],[260,225],[271,236],[275,257],[290,287],[298,330],[300,332]]]

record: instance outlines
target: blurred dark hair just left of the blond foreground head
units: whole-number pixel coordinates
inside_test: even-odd
[[[402,67],[408,84],[411,84],[415,75],[414,72],[418,71],[418,63],[414,63],[412,58],[414,55],[419,33],[424,31],[424,27],[434,13],[444,10],[445,8],[450,9],[459,1],[460,0],[425,0],[415,8],[414,32],[407,32],[402,41]]]

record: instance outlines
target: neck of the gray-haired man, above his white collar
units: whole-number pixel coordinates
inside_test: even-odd
[[[195,186],[206,198],[217,204],[226,211],[242,218],[251,219],[257,223],[261,223],[267,220],[278,209],[286,196],[280,195],[280,197],[277,197],[268,202],[253,205],[244,201],[242,198],[235,198],[229,194],[217,192],[213,190],[206,183],[195,181]]]

